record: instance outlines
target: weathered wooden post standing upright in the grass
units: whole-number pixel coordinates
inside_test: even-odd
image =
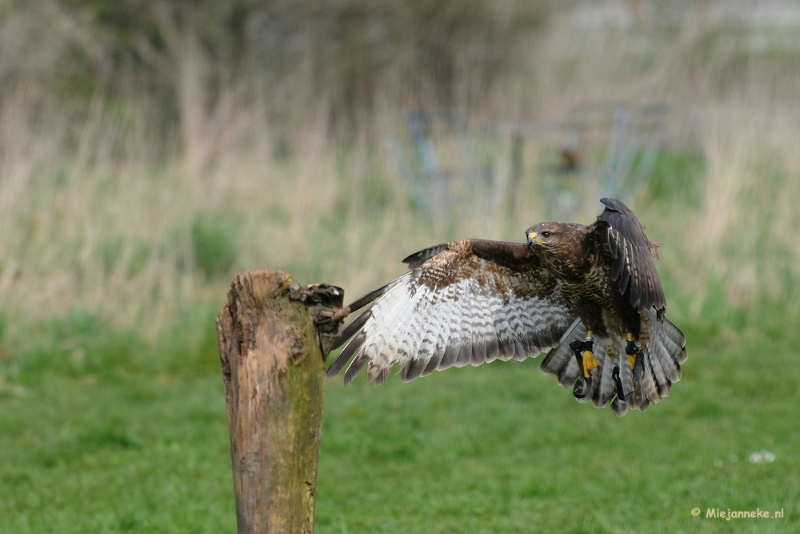
[[[342,297],[334,286],[249,271],[217,316],[239,534],[314,531],[323,347]]]

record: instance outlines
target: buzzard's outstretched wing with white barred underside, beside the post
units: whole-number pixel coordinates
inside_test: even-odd
[[[466,240],[404,260],[410,271],[350,305],[367,306],[334,342],[328,369],[349,384],[368,364],[370,381],[395,364],[404,381],[435,370],[525,359],[555,346],[575,319],[557,281],[522,244]]]

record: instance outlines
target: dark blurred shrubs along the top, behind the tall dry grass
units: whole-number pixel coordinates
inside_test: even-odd
[[[249,100],[279,126],[369,129],[379,102],[452,107],[485,99],[519,70],[544,0],[41,0],[0,8],[0,97],[35,83],[41,102],[84,118],[147,117],[184,151]],[[287,99],[296,101],[294,109]],[[238,100],[238,101],[237,101]],[[291,103],[288,103],[291,104]],[[316,110],[317,106],[322,109]],[[141,111],[146,113],[142,114]],[[97,111],[97,110],[94,110]],[[248,113],[250,112],[248,111]],[[313,112],[313,113],[312,113]],[[45,120],[43,115],[41,120]],[[215,121],[217,123],[215,124]],[[73,132],[74,133],[74,132]],[[219,139],[216,142],[220,142]],[[284,145],[285,140],[283,141]],[[169,147],[163,145],[165,152]],[[168,153],[162,156],[169,156]]]

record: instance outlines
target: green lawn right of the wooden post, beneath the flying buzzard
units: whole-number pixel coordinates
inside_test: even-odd
[[[671,397],[622,419],[576,403],[536,361],[332,386],[320,531],[786,532],[800,517],[798,355],[695,342]],[[747,461],[760,450],[775,462]],[[786,518],[704,518],[756,507]]]

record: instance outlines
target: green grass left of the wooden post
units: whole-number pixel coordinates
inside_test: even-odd
[[[235,531],[219,360],[202,336],[154,345],[82,314],[36,332],[0,381],[0,532]]]

